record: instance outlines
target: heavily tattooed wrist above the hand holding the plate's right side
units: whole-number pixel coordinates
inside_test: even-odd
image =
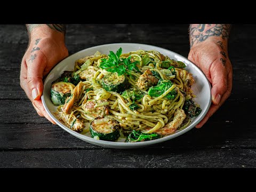
[[[190,48],[202,42],[212,41],[227,50],[230,27],[230,24],[190,24]]]

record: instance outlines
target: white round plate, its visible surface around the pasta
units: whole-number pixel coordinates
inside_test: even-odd
[[[57,107],[55,107],[50,98],[50,90],[51,90],[51,83],[57,79],[65,70],[73,70],[74,69],[74,63],[75,60],[84,58],[87,55],[92,55],[96,51],[99,51],[103,54],[109,54],[109,51],[116,52],[119,47],[122,47],[123,53],[127,53],[130,51],[136,51],[136,50],[156,50],[162,53],[163,55],[168,55],[171,59],[182,61],[186,64],[186,70],[188,70],[190,73],[193,74],[193,77],[195,78],[196,83],[192,86],[192,90],[194,91],[194,94],[197,95],[195,98],[195,102],[198,103],[202,109],[201,114],[199,114],[197,117],[194,117],[191,119],[191,123],[186,129],[183,129],[181,131],[177,131],[172,135],[169,135],[167,137],[151,140],[151,141],[144,141],[144,142],[134,142],[134,143],[126,143],[126,142],[112,142],[112,141],[102,141],[102,140],[96,140],[91,138],[90,136],[82,135],[80,133],[77,133],[75,131],[72,131],[67,127],[65,124],[60,122],[55,115],[53,114],[54,111],[56,111]],[[42,102],[45,110],[50,115],[50,117],[65,131],[68,133],[74,135],[75,137],[82,139],[84,141],[87,141],[89,143],[92,143],[94,145],[102,146],[102,147],[109,147],[109,148],[118,148],[118,149],[124,149],[124,148],[139,148],[139,147],[145,147],[149,145],[153,145],[155,143],[163,142],[169,139],[173,139],[175,137],[178,137],[179,135],[186,133],[187,131],[191,130],[197,123],[199,123],[203,117],[206,115],[207,111],[210,108],[211,105],[211,85],[207,78],[205,77],[204,73],[199,69],[196,65],[194,65],[192,62],[190,62],[185,57],[182,57],[181,55],[174,53],[172,51],[163,49],[161,47],[152,46],[152,45],[146,45],[146,44],[136,44],[136,43],[115,43],[115,44],[105,44],[105,45],[99,45],[90,47],[88,49],[79,51],[73,55],[70,55],[68,58],[62,60],[58,65],[56,65],[49,73],[49,75],[46,77],[44,82],[44,91],[42,95]]]

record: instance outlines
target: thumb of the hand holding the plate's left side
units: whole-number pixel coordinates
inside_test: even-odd
[[[41,52],[32,53],[26,61],[28,66],[28,87],[31,93],[30,100],[39,100],[43,92],[43,73],[46,58]]]

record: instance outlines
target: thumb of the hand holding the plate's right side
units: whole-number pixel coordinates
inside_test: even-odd
[[[227,70],[221,62],[215,63],[211,69],[212,78],[212,102],[219,105],[222,95],[227,91]]]

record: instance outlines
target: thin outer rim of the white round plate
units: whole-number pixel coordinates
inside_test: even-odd
[[[156,47],[157,49],[163,49],[167,52],[172,52],[174,54],[177,54],[179,57],[185,59],[185,60],[188,60],[187,58],[183,57],[182,55],[176,53],[176,52],[173,52],[171,50],[167,50],[165,48],[162,48],[162,47],[158,47],[158,46],[155,46],[155,45],[149,45],[149,44],[140,44],[140,43],[110,43],[110,44],[102,44],[102,45],[97,45],[97,46],[93,46],[93,47],[89,47],[89,48],[86,48],[84,50],[81,50],[81,51],[78,51],[74,54],[78,54],[78,53],[81,53],[81,52],[84,52],[84,51],[89,51],[90,49],[97,49],[97,47],[102,47],[102,46],[111,46],[111,45],[120,45],[122,47],[122,45],[134,45],[134,46],[150,46],[150,47]],[[71,54],[69,55],[67,58],[73,56],[74,54]],[[47,77],[49,77],[52,73],[52,71],[54,71],[54,68],[57,67],[61,62],[65,62],[65,60],[67,59],[63,59],[62,61],[60,61],[57,65],[55,65],[51,71],[49,72],[49,74],[45,77],[45,79],[47,79]],[[143,141],[143,142],[115,142],[115,141],[103,141],[103,140],[96,140],[96,139],[93,139],[93,138],[90,138],[90,137],[87,137],[85,135],[82,135],[80,133],[77,133],[73,130],[70,130],[67,126],[63,126],[58,119],[56,119],[52,114],[51,114],[51,111],[47,108],[46,106],[46,103],[45,103],[45,99],[44,99],[44,91],[43,91],[43,94],[41,96],[41,99],[42,99],[42,103],[43,103],[43,106],[47,112],[47,114],[52,118],[54,119],[54,122],[57,123],[57,125],[59,125],[63,130],[67,131],[68,133],[74,135],[75,137],[77,137],[78,139],[81,139],[83,141],[87,141],[89,143],[92,143],[94,145],[98,145],[98,146],[102,146],[102,147],[108,147],[108,148],[138,148],[138,147],[145,147],[145,146],[149,146],[149,145],[153,145],[153,144],[156,144],[156,143],[159,143],[159,142],[163,142],[163,141],[167,141],[167,140],[170,140],[170,139],[173,139],[175,137],[178,137],[179,135],[181,134],[184,134],[186,132],[188,132],[189,130],[193,129],[195,127],[196,124],[198,124],[203,118],[204,116],[207,114],[207,111],[209,110],[210,106],[211,106],[211,101],[212,101],[212,97],[211,97],[211,84],[210,82],[208,81],[208,79],[206,78],[205,74],[203,73],[203,71],[197,67],[193,62],[191,62],[190,60],[188,60],[192,65],[193,67],[195,67],[198,71],[201,72],[201,75],[206,79],[207,83],[209,86],[207,86],[207,89],[210,93],[210,98],[209,98],[209,101],[207,103],[207,107],[206,107],[206,110],[204,111],[204,113],[201,115],[200,114],[200,117],[192,122],[191,124],[189,124],[188,127],[186,127],[185,129],[177,132],[177,133],[174,133],[174,134],[171,134],[171,135],[168,135],[166,137],[163,137],[163,138],[160,138],[160,139],[156,139],[156,140],[151,140],[151,141]],[[45,80],[44,79],[44,80]],[[44,87],[45,87],[45,82],[44,82]]]

